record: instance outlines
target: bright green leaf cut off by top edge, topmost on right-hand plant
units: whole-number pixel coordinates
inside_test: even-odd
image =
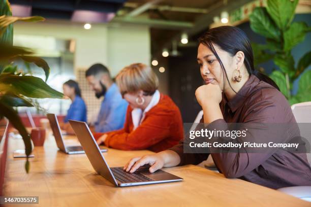
[[[267,12],[279,29],[285,31],[295,14],[298,0],[268,0]]]

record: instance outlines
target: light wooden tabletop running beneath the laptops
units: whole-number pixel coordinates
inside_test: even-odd
[[[77,144],[66,136],[67,144]],[[30,172],[25,159],[12,152],[22,149],[22,140],[9,141],[5,196],[39,196],[33,206],[310,206],[309,202],[195,165],[164,168],[182,182],[115,187],[96,174],[85,154],[67,155],[57,150],[53,136],[44,147],[35,147]],[[109,149],[104,156],[110,166],[123,166],[133,156],[150,151]],[[7,206],[14,206],[12,204]],[[30,204],[16,205],[30,206]]]

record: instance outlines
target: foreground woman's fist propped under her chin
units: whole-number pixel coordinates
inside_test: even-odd
[[[196,97],[201,107],[211,102],[219,104],[223,99],[222,90],[218,84],[200,86],[196,90]]]

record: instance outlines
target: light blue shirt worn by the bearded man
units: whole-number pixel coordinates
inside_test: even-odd
[[[127,108],[128,102],[122,98],[117,85],[113,83],[105,94],[95,131],[107,132],[123,128]]]

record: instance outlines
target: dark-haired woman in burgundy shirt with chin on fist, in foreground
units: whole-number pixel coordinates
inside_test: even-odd
[[[197,61],[205,85],[196,90],[196,98],[202,107],[201,122],[206,128],[227,130],[228,123],[294,125],[272,130],[273,134],[271,130],[248,131],[245,139],[250,143],[265,139],[284,143],[297,134],[297,123],[284,95],[270,78],[254,70],[252,47],[241,29],[212,28],[199,43]],[[154,172],[162,167],[199,164],[208,157],[209,153],[184,153],[185,141],[157,154],[135,157],[124,169],[134,172],[150,164],[149,171]],[[240,141],[242,139],[236,139]],[[304,147],[304,143],[301,145]],[[211,156],[226,178],[240,178],[274,189],[311,185],[311,168],[305,152],[271,148],[250,153],[243,148],[234,152],[212,152]]]

